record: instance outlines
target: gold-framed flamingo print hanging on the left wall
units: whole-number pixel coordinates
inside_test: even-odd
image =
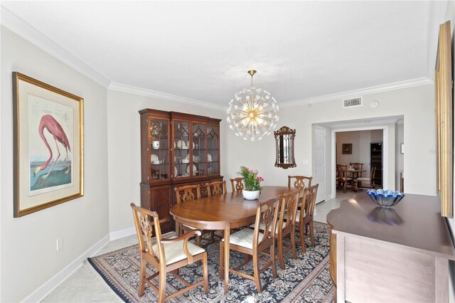
[[[13,73],[14,217],[83,196],[81,97]]]

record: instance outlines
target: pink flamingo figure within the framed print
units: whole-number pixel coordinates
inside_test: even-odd
[[[55,163],[57,163],[58,158],[60,158],[60,149],[58,149],[57,142],[60,142],[60,144],[62,144],[63,147],[65,147],[65,151],[66,151],[65,161],[67,161],[67,164],[68,164],[68,169],[65,171],[65,174],[68,174],[68,172],[70,171],[70,163],[68,161],[68,150],[71,151],[70,142],[68,142],[68,137],[66,137],[65,131],[63,130],[60,123],[58,123],[54,117],[52,117],[51,115],[44,115],[43,117],[41,117],[41,121],[40,121],[40,124],[38,127],[38,132],[40,134],[41,139],[43,139],[45,146],[48,148],[50,155],[49,155],[48,161],[45,161],[41,166],[38,166],[33,171],[33,173],[34,173],[33,176],[36,176],[36,173],[38,173],[38,171],[42,171],[43,169],[48,167],[49,162],[53,159],[52,149],[50,149],[48,140],[45,139],[45,137],[44,137],[44,129],[47,129],[48,132],[50,134],[52,134],[52,136],[55,140],[55,146],[57,147],[58,155],[57,155],[57,158],[55,158],[55,161],[53,162],[52,166],[50,166],[48,173],[41,176],[41,178],[45,179],[49,176],[50,171],[52,171]]]

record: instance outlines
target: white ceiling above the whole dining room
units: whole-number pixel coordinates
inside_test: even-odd
[[[227,105],[427,77],[427,1],[2,1],[112,83]]]

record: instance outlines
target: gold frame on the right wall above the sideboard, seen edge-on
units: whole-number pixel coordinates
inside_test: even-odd
[[[453,99],[451,79],[450,21],[439,26],[439,41],[434,71],[436,100],[437,196],[441,216],[453,216]]]

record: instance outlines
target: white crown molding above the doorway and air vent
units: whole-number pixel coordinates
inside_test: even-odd
[[[373,94],[375,92],[386,92],[387,90],[399,90],[405,87],[413,87],[419,85],[427,85],[433,83],[432,80],[429,80],[427,77],[417,78],[412,80],[400,81],[395,83],[389,83],[385,85],[378,85],[372,87],[361,88],[360,90],[348,90],[346,92],[337,92],[336,94],[323,95],[319,97],[311,97],[301,100],[294,100],[289,102],[279,103],[279,107],[294,107],[299,105],[308,105],[311,103],[327,102],[332,100],[342,100],[348,97],[360,96]]]

